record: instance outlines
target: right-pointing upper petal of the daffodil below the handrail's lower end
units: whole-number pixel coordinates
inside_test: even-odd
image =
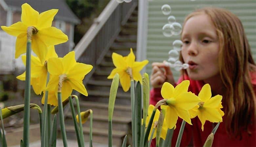
[[[84,79],[84,76],[93,69],[92,65],[84,63],[75,63],[72,69],[67,73],[68,77],[73,79]]]

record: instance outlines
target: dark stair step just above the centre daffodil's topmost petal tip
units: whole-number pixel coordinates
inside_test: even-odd
[[[130,51],[130,48],[133,49],[133,51],[137,48],[137,43],[134,42],[115,42],[111,45],[110,50],[115,52],[115,50],[127,50]]]

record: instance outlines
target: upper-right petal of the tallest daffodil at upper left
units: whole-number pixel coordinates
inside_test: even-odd
[[[37,27],[38,29],[52,26],[53,18],[57,14],[58,9],[51,9],[39,14]]]

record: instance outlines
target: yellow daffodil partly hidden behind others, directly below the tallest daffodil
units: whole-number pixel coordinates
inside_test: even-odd
[[[42,63],[39,57],[31,56],[31,85],[35,94],[41,94],[46,88],[47,79],[47,60],[51,57],[58,57],[55,52],[54,46],[48,47],[47,55]],[[22,61],[26,66],[26,55],[23,55]],[[17,79],[25,81],[26,72],[17,76]]]

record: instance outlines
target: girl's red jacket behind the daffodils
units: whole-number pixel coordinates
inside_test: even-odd
[[[254,90],[256,92],[256,74],[251,74],[252,78],[252,84],[254,87]],[[191,91],[198,95],[199,91],[202,89],[204,83],[202,81],[195,81],[189,79],[188,76],[184,77],[184,80],[190,81],[190,86],[188,91]],[[181,83],[182,79],[180,78],[177,84]],[[160,88],[155,88],[150,91],[150,104],[156,105],[156,103],[163,99],[161,96]],[[214,141],[212,144],[212,147],[256,147],[256,128],[255,123],[251,124],[249,128],[251,129],[251,136],[247,134],[246,131],[242,132],[242,140],[239,138],[229,137],[229,135],[226,132],[225,126],[225,115],[223,116],[223,122],[220,123],[220,126],[217,130],[217,132],[214,135]],[[175,146],[176,140],[180,131],[182,119],[179,118],[177,122],[177,128],[174,130],[173,138],[172,138],[172,146]],[[208,137],[208,135],[211,133],[213,129],[213,123],[206,121],[204,124],[204,131],[201,129],[201,122],[198,119],[198,117],[191,119],[191,122],[193,125],[190,125],[186,123],[185,129],[183,132],[183,136],[181,139],[181,146],[188,146],[191,141],[193,140],[193,146],[195,147],[203,147],[203,144]],[[216,124],[216,123],[215,123]],[[192,139],[193,138],[193,139]],[[191,144],[190,144],[191,145]],[[152,140],[151,147],[156,146],[155,139]]]

